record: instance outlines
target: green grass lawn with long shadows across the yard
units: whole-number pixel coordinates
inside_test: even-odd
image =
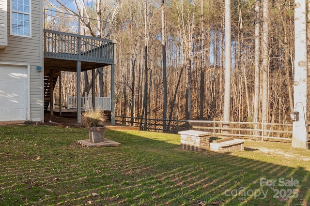
[[[310,205],[310,150],[180,149],[176,134],[106,131],[121,147],[81,148],[80,128],[0,127],[0,206]]]

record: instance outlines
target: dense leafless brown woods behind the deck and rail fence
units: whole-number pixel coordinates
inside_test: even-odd
[[[147,118],[162,118],[167,109],[168,119],[222,120],[224,85],[231,81],[231,121],[290,122],[294,0],[231,0],[228,80],[222,0],[46,0],[45,6],[109,22],[109,38],[117,41],[117,116],[144,117],[146,111]],[[103,27],[84,22],[85,33],[108,38],[94,32]],[[109,68],[96,74],[96,92],[108,96]],[[74,94],[76,74],[62,75],[63,95]],[[89,92],[91,75],[82,75]]]

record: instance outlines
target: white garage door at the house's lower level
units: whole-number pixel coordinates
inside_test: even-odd
[[[0,65],[0,121],[26,120],[27,67]]]

